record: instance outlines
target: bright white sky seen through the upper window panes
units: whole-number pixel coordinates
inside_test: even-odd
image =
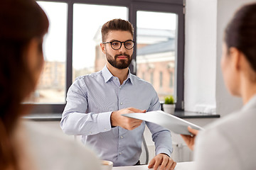
[[[60,2],[38,1],[50,21],[43,52],[48,61],[65,62],[68,5]],[[58,12],[56,12],[58,10]],[[74,4],[73,8],[73,68],[93,67],[95,33],[113,18],[127,19],[126,7]],[[161,19],[159,19],[161,18]],[[137,11],[137,28],[176,29],[174,13]]]

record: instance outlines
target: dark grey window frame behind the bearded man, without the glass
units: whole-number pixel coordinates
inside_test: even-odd
[[[125,6],[128,8],[127,18],[134,26],[134,41],[137,39],[137,11],[154,11],[176,13],[178,16],[177,33],[177,56],[176,56],[176,110],[183,110],[183,73],[184,73],[184,4],[181,0],[38,0],[49,2],[63,2],[68,4],[68,26],[67,26],[67,54],[66,54],[66,79],[65,79],[65,98],[69,87],[73,83],[73,5],[74,4],[93,4],[106,6]],[[137,74],[136,53],[137,47],[134,46],[134,61],[129,66],[132,74]],[[32,113],[62,113],[65,104],[34,104]]]

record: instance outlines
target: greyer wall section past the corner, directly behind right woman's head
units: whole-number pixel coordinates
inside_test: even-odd
[[[216,74],[216,106],[217,113],[221,116],[228,115],[232,111],[238,110],[242,106],[240,98],[231,96],[225,89],[220,68],[220,58],[222,54],[223,32],[235,11],[243,4],[256,2],[255,0],[218,0],[217,16],[217,74]]]

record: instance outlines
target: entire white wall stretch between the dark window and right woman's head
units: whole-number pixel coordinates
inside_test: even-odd
[[[216,107],[220,117],[238,110],[240,98],[225,89],[220,69],[223,31],[242,4],[255,0],[187,0],[185,17],[184,104]]]

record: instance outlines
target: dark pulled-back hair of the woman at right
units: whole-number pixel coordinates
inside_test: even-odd
[[[256,4],[242,6],[225,29],[225,43],[247,58],[256,72]]]

